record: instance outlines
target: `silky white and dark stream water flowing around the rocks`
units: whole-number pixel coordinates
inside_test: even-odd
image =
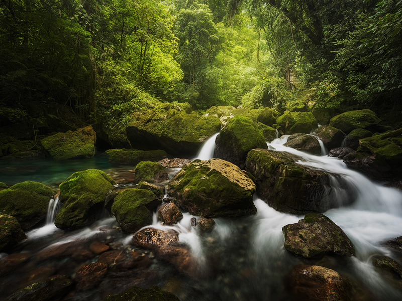
[[[204,144],[196,155],[197,159],[208,160],[213,157],[215,138],[216,135]],[[132,246],[132,235],[122,234],[114,218],[99,220],[80,231],[64,232],[52,223],[53,212],[49,213],[48,224],[28,232],[28,239],[17,249],[17,252],[29,254],[30,265],[19,267],[6,276],[0,273],[0,287],[4,287],[0,293],[8,295],[24,287],[29,282],[27,277],[35,274],[34,271],[38,269],[48,268],[50,274],[66,273],[74,276],[82,264],[97,261],[96,256],[77,259],[74,257],[76,255],[62,260],[38,259],[54,246],[76,241],[88,245],[92,241],[107,240],[112,249],[127,254],[132,251],[142,252],[152,259],[152,264],[145,270],[125,273],[110,268],[112,276],[106,277],[96,289],[75,292],[66,300],[102,300],[107,294],[117,293],[134,284],[145,287],[158,284],[162,289],[175,293],[182,301],[288,300],[285,278],[293,266],[299,263],[322,265],[344,273],[370,289],[374,299],[402,299],[400,291],[382,278],[370,260],[374,254],[384,254],[401,262],[400,254],[393,253],[382,242],[402,235],[402,193],[348,169],[342,160],[326,157],[328,151],[322,142],[324,156],[312,156],[283,146],[286,139],[287,136],[277,138],[267,143],[268,147],[297,155],[301,158],[298,163],[312,169],[338,175],[332,179],[330,189],[339,208],[324,214],[351,239],[356,248],[355,257],[341,260],[325,256],[319,260],[306,260],[290,254],[283,247],[282,227],[296,223],[303,216],[277,212],[256,196],[256,215],[238,219],[216,218],[216,227],[209,233],[200,231],[199,227],[191,227],[190,221],[194,216],[188,213],[184,213],[183,219],[174,226],[162,225],[154,215],[152,227],[176,230],[179,240],[190,247],[197,262],[197,269],[192,270],[190,276],[180,275],[152,252],[144,252]],[[344,204],[346,196],[354,198],[351,205]]]

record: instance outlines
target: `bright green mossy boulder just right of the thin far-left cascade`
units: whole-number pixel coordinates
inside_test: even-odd
[[[63,204],[54,221],[57,228],[75,230],[91,225],[105,206],[106,195],[116,182],[100,170],[76,172],[60,184]]]

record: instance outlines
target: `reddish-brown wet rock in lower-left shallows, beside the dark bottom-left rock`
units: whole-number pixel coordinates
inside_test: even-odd
[[[103,262],[84,265],[74,277],[74,280],[77,281],[77,289],[86,290],[97,286],[107,271],[108,264]]]

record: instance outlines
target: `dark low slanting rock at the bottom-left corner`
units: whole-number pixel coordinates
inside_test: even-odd
[[[12,294],[8,301],[50,301],[64,297],[74,289],[74,282],[65,275],[55,275],[33,283]]]

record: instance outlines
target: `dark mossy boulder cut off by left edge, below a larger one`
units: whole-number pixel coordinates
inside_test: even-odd
[[[0,212],[0,252],[6,251],[26,237],[17,219]]]

